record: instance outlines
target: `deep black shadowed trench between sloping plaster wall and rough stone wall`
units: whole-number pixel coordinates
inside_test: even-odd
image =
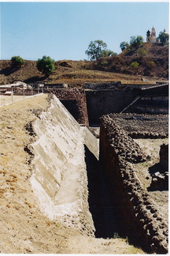
[[[111,198],[109,184],[99,160],[85,147],[85,162],[87,165],[88,203],[94,221],[96,238],[113,238],[120,235],[120,218],[116,214]],[[121,234],[122,236],[122,234]]]

